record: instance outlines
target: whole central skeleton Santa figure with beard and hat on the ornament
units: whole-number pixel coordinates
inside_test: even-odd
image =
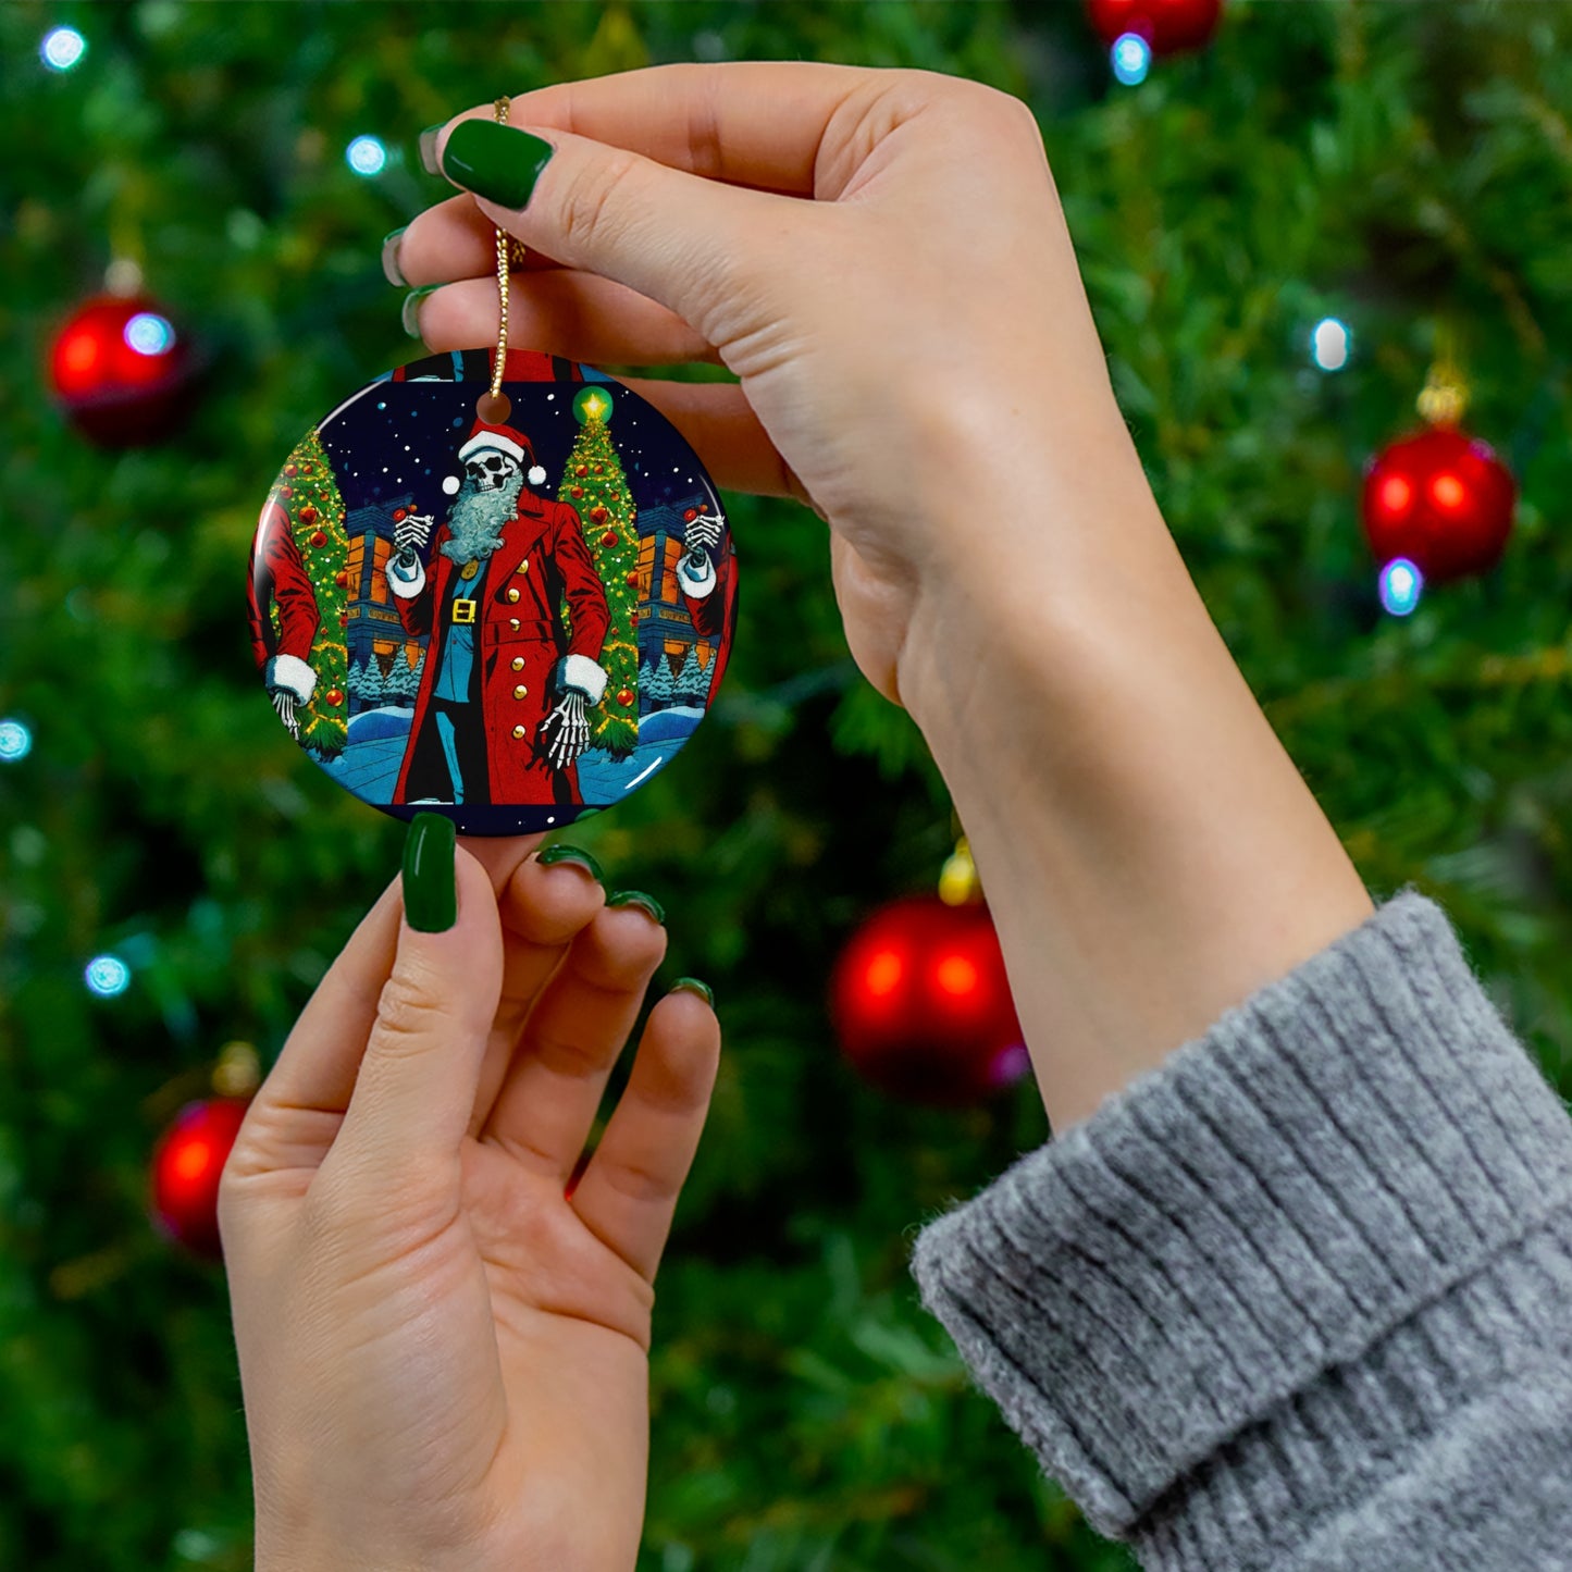
[[[426,563],[417,549],[434,520],[412,514],[387,564],[406,630],[428,638],[393,802],[580,803],[610,623],[583,527],[531,489],[545,470],[512,426],[476,421],[459,461],[464,481]]]

